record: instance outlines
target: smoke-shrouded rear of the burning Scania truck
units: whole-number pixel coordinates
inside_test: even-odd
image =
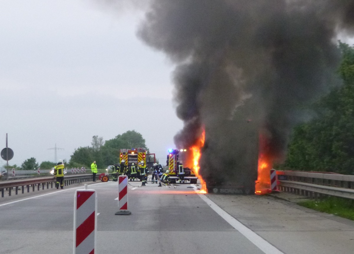
[[[229,133],[208,138],[201,149],[200,174],[208,193],[254,194],[258,176],[258,131],[251,119],[225,122]],[[215,164],[215,150],[219,158]]]

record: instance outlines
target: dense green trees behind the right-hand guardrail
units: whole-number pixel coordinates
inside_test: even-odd
[[[286,167],[354,174],[354,48],[339,48],[343,86],[315,104],[315,119],[294,129]]]

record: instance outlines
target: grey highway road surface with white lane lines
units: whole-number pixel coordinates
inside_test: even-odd
[[[200,195],[130,182],[118,211],[118,183],[93,183],[96,253],[353,253],[354,223],[270,196]],[[197,186],[199,187],[199,186]],[[0,199],[0,253],[72,253],[74,194],[83,185]]]

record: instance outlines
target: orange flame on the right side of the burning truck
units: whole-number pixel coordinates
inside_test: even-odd
[[[258,178],[256,181],[255,194],[262,195],[270,192],[270,169],[272,169],[272,159],[270,156],[265,155],[267,150],[265,137],[259,137],[260,153],[258,156]]]

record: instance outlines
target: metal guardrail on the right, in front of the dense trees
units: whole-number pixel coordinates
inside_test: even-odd
[[[324,172],[276,171],[281,191],[312,198],[324,195],[354,199],[354,175]]]

